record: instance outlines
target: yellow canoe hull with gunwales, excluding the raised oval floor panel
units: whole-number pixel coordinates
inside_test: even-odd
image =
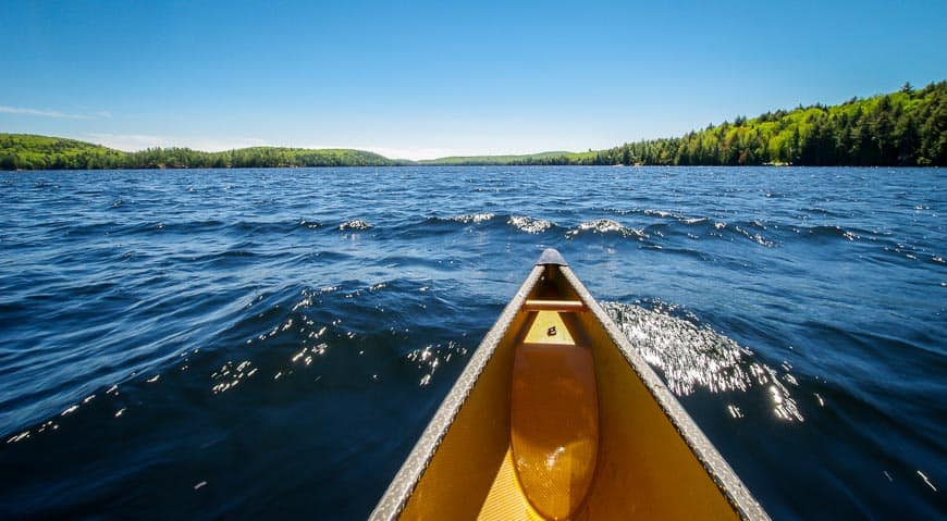
[[[595,434],[586,436],[594,446],[589,482],[579,500],[550,510],[516,472],[512,389],[518,349],[530,344],[530,326],[542,312],[536,302],[554,300],[581,302],[558,314],[590,350],[598,410]],[[768,519],[562,258],[544,253],[371,519],[565,518]]]

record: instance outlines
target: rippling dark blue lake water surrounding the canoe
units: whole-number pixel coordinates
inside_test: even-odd
[[[0,518],[364,519],[554,247],[774,519],[943,519],[945,216],[943,170],[0,173]]]

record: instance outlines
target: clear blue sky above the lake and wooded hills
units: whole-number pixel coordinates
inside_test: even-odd
[[[4,1],[0,132],[122,150],[602,149],[947,79],[935,1]]]

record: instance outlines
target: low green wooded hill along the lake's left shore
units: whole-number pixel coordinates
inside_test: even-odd
[[[188,148],[149,148],[123,152],[74,139],[0,134],[0,170],[391,166],[405,163],[349,149],[251,147],[200,152]]]

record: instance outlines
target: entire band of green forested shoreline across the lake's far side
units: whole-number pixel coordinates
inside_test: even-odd
[[[254,147],[223,152],[123,152],[73,139],[0,134],[0,170],[230,169],[393,165],[947,165],[947,82],[825,107],[735,117],[681,137],[588,152],[478,156],[411,162],[349,149]]]

